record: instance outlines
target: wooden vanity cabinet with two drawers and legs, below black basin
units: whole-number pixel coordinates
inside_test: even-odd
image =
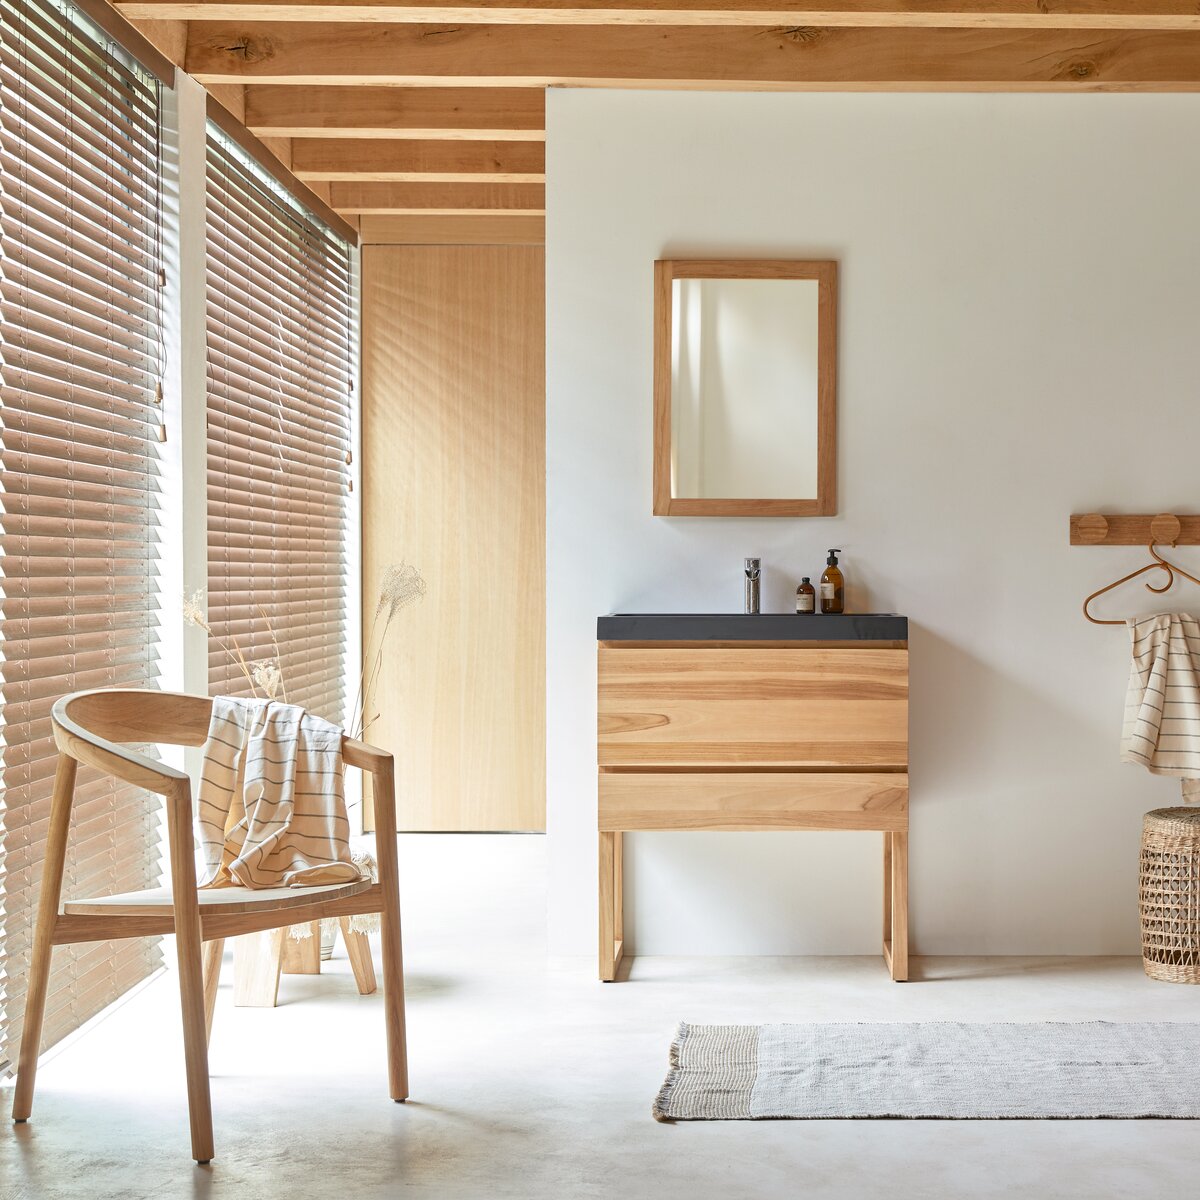
[[[638,829],[882,833],[883,956],[907,978],[907,642],[600,642],[598,679],[601,979]]]

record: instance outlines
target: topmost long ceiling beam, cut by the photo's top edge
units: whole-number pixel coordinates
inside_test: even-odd
[[[1194,0],[116,0],[132,20],[1196,30]]]

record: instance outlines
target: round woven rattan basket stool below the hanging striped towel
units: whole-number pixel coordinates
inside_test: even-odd
[[[1146,814],[1139,907],[1146,974],[1200,983],[1200,809]]]

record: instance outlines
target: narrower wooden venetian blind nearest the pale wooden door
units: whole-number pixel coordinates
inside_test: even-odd
[[[350,247],[211,125],[208,154],[209,690],[250,692],[236,643],[342,724]]]

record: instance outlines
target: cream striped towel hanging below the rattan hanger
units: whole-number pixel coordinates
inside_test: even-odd
[[[1164,612],[1130,617],[1133,664],[1121,761],[1181,779],[1184,803],[1200,800],[1200,620]]]

